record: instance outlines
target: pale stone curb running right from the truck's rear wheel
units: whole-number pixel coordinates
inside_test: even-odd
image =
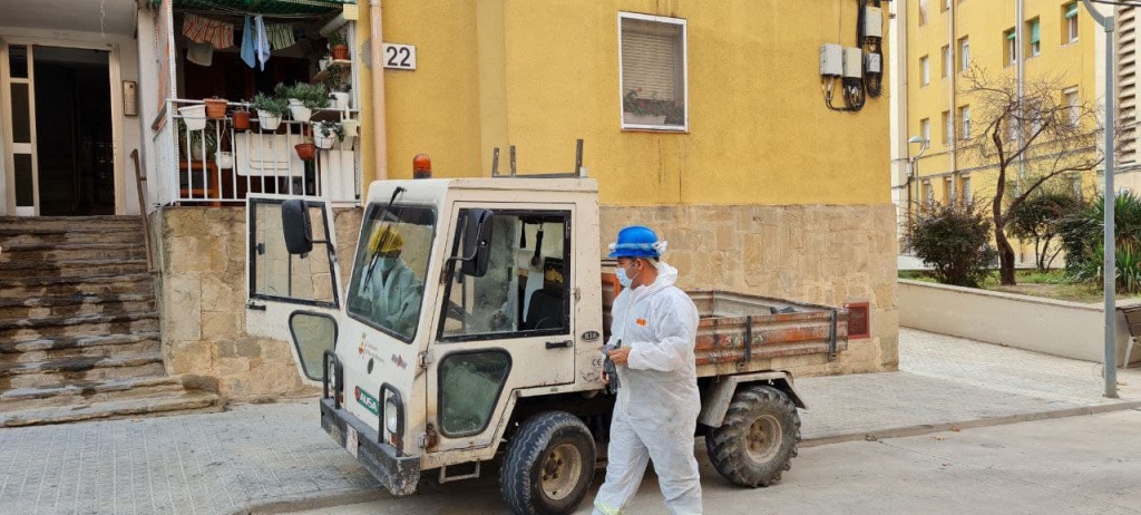
[[[1054,418],[1081,417],[1086,415],[1109,413],[1114,411],[1135,410],[1141,408],[1141,401],[1116,402],[1111,404],[1085,405],[1078,408],[1067,408],[1054,411],[1039,411],[1033,413],[1008,415],[1003,417],[961,420],[941,424],[920,424],[915,426],[897,427],[882,430],[840,433],[808,438],[800,443],[801,448],[817,445],[828,445],[833,443],[868,441],[874,442],[883,438],[903,438],[907,436],[919,436],[930,433],[944,433],[954,429],[970,429],[974,427],[1002,426],[1006,424],[1027,423],[1033,420],[1049,420]]]

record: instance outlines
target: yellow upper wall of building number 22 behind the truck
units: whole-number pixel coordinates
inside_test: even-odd
[[[620,11],[687,21],[687,134],[621,129]],[[582,138],[608,204],[885,204],[889,78],[855,114],[820,87],[820,46],[853,46],[856,23],[848,0],[385,2],[385,40],[418,53],[385,72],[389,176],[420,152],[437,177],[487,176],[493,146],[505,172],[508,144],[523,174],[568,172]]]

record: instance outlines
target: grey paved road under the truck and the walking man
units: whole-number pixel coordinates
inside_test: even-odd
[[[702,460],[705,513],[1141,514],[1141,411],[804,449],[783,482],[728,485]],[[598,490],[596,477],[591,496]],[[494,482],[305,514],[499,514]],[[576,512],[590,513],[588,502]],[[631,514],[663,513],[647,477]]]

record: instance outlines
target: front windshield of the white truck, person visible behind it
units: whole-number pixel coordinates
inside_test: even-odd
[[[436,211],[422,206],[369,207],[361,227],[349,316],[405,343],[416,336],[424,274],[436,231]]]

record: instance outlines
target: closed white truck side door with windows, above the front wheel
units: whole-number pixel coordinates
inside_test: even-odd
[[[491,259],[484,276],[445,266],[428,349],[428,423],[432,451],[494,445],[501,416],[519,388],[575,377],[573,313],[575,206],[458,202],[450,256],[460,256],[466,219],[491,209]]]

